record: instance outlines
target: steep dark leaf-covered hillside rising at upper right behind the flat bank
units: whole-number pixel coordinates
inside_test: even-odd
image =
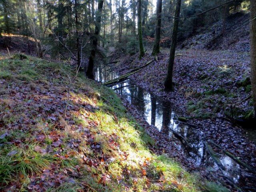
[[[223,20],[198,28],[194,34],[178,42],[180,49],[229,50],[250,52],[249,14],[236,12],[227,17],[224,35]]]

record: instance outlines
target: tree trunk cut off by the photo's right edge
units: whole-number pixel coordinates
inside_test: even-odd
[[[250,1],[250,57],[252,74],[252,98],[254,107],[254,119],[256,120],[256,1]]]

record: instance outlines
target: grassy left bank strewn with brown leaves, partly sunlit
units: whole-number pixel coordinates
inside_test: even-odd
[[[127,113],[116,94],[82,74],[72,85],[67,117],[60,118],[67,94],[64,88],[52,88],[67,86],[64,70],[72,75],[61,64],[30,56],[0,60],[1,72],[19,74],[11,77],[12,86],[26,90],[22,100],[0,96],[4,101],[1,110],[15,118],[0,114],[0,119],[6,118],[0,128],[2,188],[15,181],[20,191],[32,186],[44,186],[49,192],[205,190],[198,177],[174,159],[153,154],[146,146],[154,146],[154,140]],[[36,90],[38,83],[43,92]],[[8,82],[4,86],[10,93]],[[45,176],[44,169],[52,176]],[[61,183],[53,179],[56,174],[64,175]]]

